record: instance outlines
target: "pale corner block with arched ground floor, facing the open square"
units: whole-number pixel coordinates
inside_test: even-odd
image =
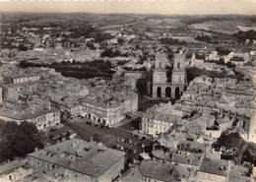
[[[138,94],[134,91],[113,91],[98,96],[87,96],[82,116],[95,123],[112,126],[138,111]]]

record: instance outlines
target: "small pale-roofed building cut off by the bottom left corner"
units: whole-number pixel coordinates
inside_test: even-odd
[[[13,182],[32,174],[32,168],[19,160],[0,165],[0,182]]]

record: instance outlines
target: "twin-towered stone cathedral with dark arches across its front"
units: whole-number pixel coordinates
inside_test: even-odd
[[[164,52],[156,55],[155,68],[151,70],[148,82],[148,94],[153,98],[178,98],[187,86],[185,53],[174,55],[171,78],[167,76],[168,59]]]

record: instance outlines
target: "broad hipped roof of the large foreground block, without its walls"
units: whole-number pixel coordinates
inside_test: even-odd
[[[125,152],[112,150],[95,142],[85,142],[77,139],[65,141],[29,154],[31,157],[94,177],[103,174],[124,155]]]

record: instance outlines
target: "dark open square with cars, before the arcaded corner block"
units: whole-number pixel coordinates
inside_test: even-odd
[[[117,128],[100,128],[86,123],[66,122],[65,127],[72,129],[78,137],[85,141],[101,142],[104,146],[126,152],[127,159],[139,159],[141,152],[150,152],[153,148],[151,139],[133,135],[130,123]]]

